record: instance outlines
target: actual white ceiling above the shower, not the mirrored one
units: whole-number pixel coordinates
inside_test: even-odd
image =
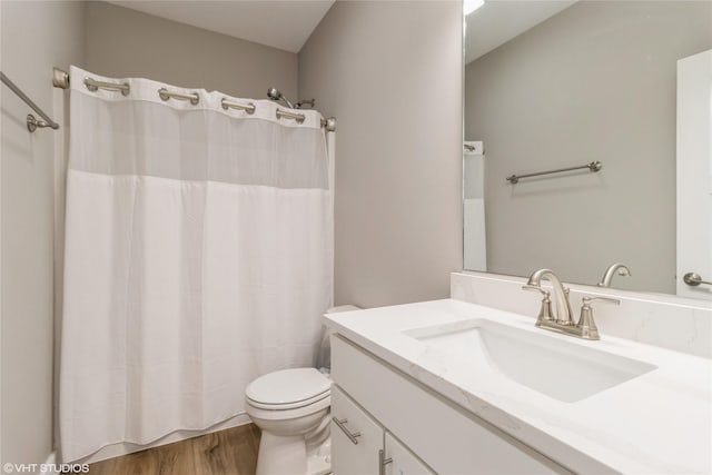
[[[119,7],[299,52],[334,0],[109,1]]]

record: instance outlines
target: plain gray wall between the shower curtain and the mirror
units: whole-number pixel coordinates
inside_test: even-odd
[[[339,1],[299,53],[338,118],[336,303],[443,298],[462,268],[462,4]]]

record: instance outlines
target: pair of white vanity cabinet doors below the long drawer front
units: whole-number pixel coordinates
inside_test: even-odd
[[[335,475],[433,474],[338,386],[332,388],[332,469]]]

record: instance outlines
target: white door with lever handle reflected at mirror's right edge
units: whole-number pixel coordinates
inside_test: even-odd
[[[678,295],[712,300],[712,50],[678,61]],[[690,278],[692,277],[692,279]]]

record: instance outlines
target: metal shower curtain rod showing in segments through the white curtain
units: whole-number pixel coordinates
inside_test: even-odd
[[[2,76],[3,76],[3,82],[4,82],[4,75]],[[52,71],[52,86],[60,89],[69,89],[69,72],[59,68],[55,68]],[[127,96],[131,91],[131,87],[128,85],[128,82],[125,82],[125,83],[105,82],[105,81],[97,81],[96,79],[91,79],[91,78],[85,78],[85,86],[87,86],[87,89],[89,89],[90,91],[96,91],[97,89],[108,89],[108,90],[121,91],[123,96]],[[187,95],[184,92],[175,92],[175,91],[169,91],[165,88],[161,88],[158,91],[158,95],[162,100],[168,100],[172,98],[172,99],[180,99],[180,100],[189,100],[192,105],[198,103],[198,95]],[[226,109],[226,110],[228,108],[231,108],[231,109],[243,109],[247,113],[255,112],[255,105],[251,102],[248,105],[241,105],[241,103],[233,102],[227,98],[224,98],[221,101],[221,105],[222,105],[222,109]],[[40,113],[40,111],[38,110],[37,113]],[[276,113],[277,113],[277,119],[284,117],[287,119],[294,119],[297,121],[297,123],[304,122],[304,119],[306,118],[304,113],[287,112],[286,110],[280,110],[280,109],[277,109]],[[327,119],[322,118],[320,125],[324,129],[326,129],[327,132],[336,131],[336,117],[329,117]],[[29,118],[28,118],[28,128],[29,128]]]

